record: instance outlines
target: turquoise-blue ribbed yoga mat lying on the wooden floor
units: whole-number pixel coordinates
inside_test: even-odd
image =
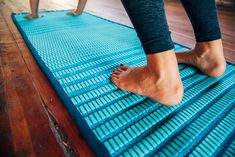
[[[44,14],[12,18],[98,156],[234,156],[234,65],[212,78],[180,64],[183,101],[163,106],[111,83],[120,63],[146,63],[134,29],[88,13]],[[182,50],[187,48],[175,44],[175,51]]]

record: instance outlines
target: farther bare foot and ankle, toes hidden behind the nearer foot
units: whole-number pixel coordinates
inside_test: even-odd
[[[197,43],[194,49],[176,53],[176,57],[178,63],[195,66],[211,77],[222,75],[226,69],[221,39]]]

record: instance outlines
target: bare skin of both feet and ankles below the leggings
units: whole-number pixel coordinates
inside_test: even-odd
[[[179,104],[183,97],[178,63],[193,65],[212,77],[222,75],[226,69],[220,39],[196,43],[191,51],[176,55],[169,50],[146,57],[147,64],[143,67],[120,65],[112,73],[112,82],[122,90],[147,96],[168,106]]]

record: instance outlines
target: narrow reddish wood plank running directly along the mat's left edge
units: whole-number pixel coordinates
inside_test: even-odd
[[[8,21],[8,25],[9,28],[14,32],[14,36],[20,36],[15,40],[18,43],[27,68],[32,74],[33,82],[36,85],[37,90],[40,92],[41,97],[43,98],[43,101],[45,102],[45,105],[51,116],[53,116],[53,118],[56,120],[60,129],[62,129],[63,132],[68,133],[66,134],[66,138],[68,138],[69,144],[73,147],[74,151],[76,151],[79,156],[94,156],[86,141],[81,137],[79,129],[76,127],[74,121],[56,95],[53,87],[45,75],[41,72],[31,52],[28,50],[24,42],[19,42],[21,41],[22,37],[19,34],[17,28],[11,20]]]

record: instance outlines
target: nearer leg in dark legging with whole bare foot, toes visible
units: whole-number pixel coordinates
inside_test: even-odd
[[[144,95],[165,105],[178,104],[183,96],[173,42],[163,0],[122,0],[144,48],[147,64],[119,66],[112,81],[120,89]]]

